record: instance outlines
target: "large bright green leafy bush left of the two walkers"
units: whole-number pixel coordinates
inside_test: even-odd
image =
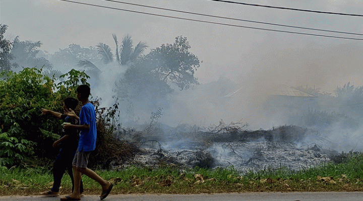
[[[72,70],[68,80],[55,85],[41,70],[25,68],[0,74],[0,165],[18,165],[33,155],[50,157],[61,122],[41,115],[41,108],[63,111],[63,99],[75,97],[87,75]]]

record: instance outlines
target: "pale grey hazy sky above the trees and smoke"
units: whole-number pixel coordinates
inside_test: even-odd
[[[205,20],[240,26],[363,38],[347,34],[283,28],[250,22],[181,14],[102,0],[72,0],[125,10]],[[123,1],[123,0],[118,0]],[[363,17],[317,14],[301,11],[227,4],[208,0],[124,0],[166,9],[251,21],[342,32],[363,33]],[[361,1],[241,1],[305,10],[363,14]],[[188,38],[191,52],[203,60],[196,73],[201,83],[223,75],[252,87],[287,84],[309,85],[331,91],[347,82],[363,85],[362,43],[291,33],[263,31],[202,22],[170,19],[127,11],[98,8],[57,0],[0,0],[0,23],[9,26],[6,38],[41,41],[41,50],[54,52],[75,43],[83,47],[99,42],[115,49],[112,34],[119,40],[130,34],[135,43],[150,48],[173,43],[176,36]]]

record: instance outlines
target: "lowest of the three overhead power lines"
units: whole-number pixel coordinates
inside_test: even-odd
[[[74,1],[70,1],[70,0],[58,0],[58,1],[75,3],[75,4],[81,4],[81,5],[88,5],[88,6],[94,6],[94,7],[100,7],[100,8],[107,8],[107,9],[113,9],[113,10],[119,10],[119,11],[127,11],[127,12],[132,12],[132,13],[152,15],[152,16],[158,16],[158,17],[173,18],[173,19],[179,19],[179,20],[189,20],[189,21],[195,21],[195,22],[204,22],[204,23],[217,24],[217,25],[225,25],[225,26],[231,26],[231,27],[257,29],[257,30],[264,30],[264,31],[275,31],[275,32],[282,32],[282,33],[294,33],[294,34],[310,35],[310,36],[321,36],[321,37],[328,37],[328,38],[340,38],[340,39],[349,39],[349,40],[363,40],[361,38],[349,38],[349,37],[329,36],[329,35],[322,35],[322,34],[311,34],[311,33],[301,33],[301,32],[293,32],[293,31],[275,30],[275,29],[265,29],[265,28],[257,28],[257,27],[233,25],[233,24],[218,23],[218,22],[211,22],[211,21],[204,21],[204,20],[196,20],[196,19],[189,19],[189,18],[173,17],[173,16],[159,15],[159,14],[153,14],[153,13],[140,12],[140,11],[132,11],[132,10],[126,10],[126,9],[119,9],[119,8],[107,7],[107,6],[101,6],[101,5],[87,4],[87,3],[81,3],[81,2],[74,2]]]

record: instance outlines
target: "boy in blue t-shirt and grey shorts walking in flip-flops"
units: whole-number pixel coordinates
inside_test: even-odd
[[[88,158],[91,151],[96,148],[96,112],[92,103],[89,102],[88,97],[90,95],[91,89],[88,85],[80,85],[77,88],[77,99],[82,102],[82,109],[79,117],[73,110],[69,110],[67,115],[73,116],[80,120],[80,125],[65,124],[64,128],[76,128],[81,130],[80,139],[78,143],[78,149],[76,151],[75,157],[73,159],[73,170],[74,170],[74,180],[75,180],[75,190],[72,194],[61,197],[61,200],[80,200],[80,184],[82,174],[87,175],[91,179],[97,181],[102,186],[101,199],[106,198],[106,196],[111,191],[113,184],[107,180],[104,180],[93,170],[87,168]]]

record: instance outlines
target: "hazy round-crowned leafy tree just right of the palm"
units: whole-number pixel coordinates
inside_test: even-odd
[[[117,97],[142,101],[144,104],[140,105],[155,109],[160,106],[158,104],[167,104],[165,98],[173,92],[172,85],[184,90],[192,84],[199,84],[194,72],[200,62],[189,52],[190,48],[187,38],[178,36],[173,44],[162,44],[140,56],[117,83]]]

